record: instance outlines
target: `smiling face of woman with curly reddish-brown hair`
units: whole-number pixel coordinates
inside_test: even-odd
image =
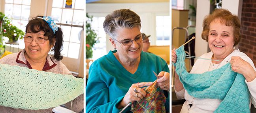
[[[226,58],[234,51],[233,27],[226,26],[219,19],[213,20],[209,26],[208,44],[214,59]]]

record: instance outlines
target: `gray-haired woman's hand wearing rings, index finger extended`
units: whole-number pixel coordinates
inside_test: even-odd
[[[144,91],[146,87],[144,86],[151,86],[152,84],[153,82],[141,82],[138,84],[132,84],[128,92],[124,95],[124,98],[122,99],[122,101],[119,102],[118,109],[124,108],[130,102],[141,101],[143,97],[146,97],[146,92]],[[143,87],[143,88],[140,88],[140,87]]]

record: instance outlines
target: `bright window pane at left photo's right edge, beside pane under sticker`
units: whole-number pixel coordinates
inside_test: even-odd
[[[83,10],[74,10],[73,25],[83,25]]]

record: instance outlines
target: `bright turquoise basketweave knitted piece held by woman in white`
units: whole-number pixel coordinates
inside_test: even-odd
[[[176,73],[189,95],[222,100],[214,113],[250,113],[250,92],[245,77],[232,71],[230,63],[203,74],[188,73],[184,62],[184,46],[175,51]]]

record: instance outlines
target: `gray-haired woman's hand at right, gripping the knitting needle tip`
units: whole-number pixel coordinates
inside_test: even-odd
[[[170,89],[170,74],[168,72],[161,71],[158,74],[159,79],[157,80],[157,86],[159,86],[162,90]]]

